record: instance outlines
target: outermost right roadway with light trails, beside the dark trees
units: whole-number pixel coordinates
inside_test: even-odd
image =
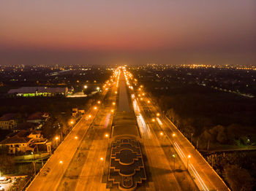
[[[132,85],[135,86],[135,84]],[[160,111],[159,107],[152,104],[154,102],[149,95],[144,93],[145,96],[141,96],[141,90],[135,92],[136,96],[139,94],[143,99],[141,100],[141,98],[138,98],[138,104],[144,106],[140,106],[140,110],[144,109],[144,112],[147,112],[148,116],[156,116]],[[200,190],[229,190],[214,169],[208,165],[203,156],[197,152],[195,147],[193,147],[187,138],[183,136],[173,122],[161,115],[156,117],[155,120],[162,129],[162,135],[173,145],[173,148],[176,150],[176,153],[184,165],[188,166],[189,174],[195,178],[195,183]],[[146,123],[150,122],[151,119],[148,118]]]

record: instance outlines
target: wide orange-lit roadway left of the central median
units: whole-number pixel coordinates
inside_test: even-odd
[[[91,187],[89,190],[96,190],[99,187],[102,177],[99,173],[103,169],[108,143],[105,135],[109,133],[116,88],[112,85],[103,91],[102,97],[108,95],[108,98],[102,106],[92,107],[86,117],[75,125],[26,190],[88,190],[88,185]],[[88,170],[88,167],[94,169]],[[82,182],[84,177],[87,182]],[[81,187],[81,183],[86,188]]]

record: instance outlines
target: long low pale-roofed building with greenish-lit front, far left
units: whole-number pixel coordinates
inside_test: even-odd
[[[34,97],[34,96],[55,96],[64,95],[67,96],[67,87],[19,87],[17,89],[10,89],[8,94]]]

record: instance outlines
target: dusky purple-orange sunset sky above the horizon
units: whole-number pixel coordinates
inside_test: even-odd
[[[255,0],[1,0],[0,65],[256,65]]]

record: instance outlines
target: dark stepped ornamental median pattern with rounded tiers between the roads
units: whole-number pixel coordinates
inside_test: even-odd
[[[118,184],[119,190],[135,190],[146,181],[140,142],[119,139],[112,142],[108,181]]]

